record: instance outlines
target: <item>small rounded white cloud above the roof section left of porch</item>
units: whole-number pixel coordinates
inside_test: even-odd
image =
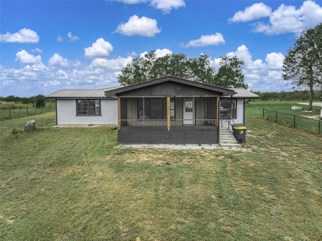
[[[113,46],[103,38],[99,38],[95,43],[92,44],[92,47],[84,48],[84,51],[85,58],[108,57],[110,52],[113,51]]]

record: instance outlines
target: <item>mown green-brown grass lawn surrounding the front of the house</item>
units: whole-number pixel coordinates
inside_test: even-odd
[[[34,117],[17,138],[30,119],[0,125],[1,240],[322,236],[321,136],[249,117],[240,151],[119,148],[112,128]]]

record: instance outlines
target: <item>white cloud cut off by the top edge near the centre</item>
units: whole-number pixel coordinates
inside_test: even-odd
[[[155,9],[161,10],[164,14],[169,14],[172,9],[178,9],[181,7],[185,7],[184,0],[111,0],[116,2],[121,2],[124,4],[142,4],[142,3],[150,3]]]

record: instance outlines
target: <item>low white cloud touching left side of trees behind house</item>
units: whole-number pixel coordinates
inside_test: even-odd
[[[105,68],[110,70],[122,70],[128,63],[132,62],[132,57],[122,58],[118,56],[116,59],[95,58],[92,61],[94,68]]]

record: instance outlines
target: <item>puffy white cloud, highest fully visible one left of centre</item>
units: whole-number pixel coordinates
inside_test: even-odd
[[[146,17],[139,18],[138,16],[133,15],[129,18],[128,22],[120,23],[115,32],[127,36],[138,35],[154,37],[155,34],[161,32],[161,29],[157,28],[157,22],[155,19]]]

